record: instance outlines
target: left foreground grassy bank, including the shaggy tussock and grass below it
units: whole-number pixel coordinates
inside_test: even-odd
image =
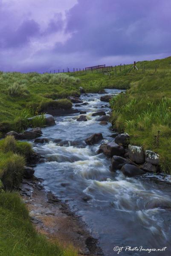
[[[65,250],[36,233],[26,205],[14,192],[32,154],[29,143],[16,141],[13,136],[0,140],[0,255],[75,256],[70,246]]]

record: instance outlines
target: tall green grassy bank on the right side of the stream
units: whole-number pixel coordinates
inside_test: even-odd
[[[171,58],[154,62],[157,72],[150,68],[145,73],[133,70],[135,77],[130,82],[130,89],[114,97],[110,104],[113,127],[119,132],[128,132],[133,145],[157,152],[162,171],[170,174],[171,67],[165,66],[165,61],[171,63]],[[135,79],[138,74],[139,79]]]

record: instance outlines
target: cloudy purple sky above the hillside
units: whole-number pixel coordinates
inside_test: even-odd
[[[171,55],[171,0],[0,0],[0,70],[46,72]]]

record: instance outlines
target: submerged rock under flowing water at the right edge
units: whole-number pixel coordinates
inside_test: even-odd
[[[161,198],[154,198],[146,204],[146,209],[171,209],[171,201],[161,199]]]

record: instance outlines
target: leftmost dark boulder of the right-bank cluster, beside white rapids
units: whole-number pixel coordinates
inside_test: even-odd
[[[113,157],[114,155],[123,156],[125,154],[125,149],[122,146],[111,142],[107,144],[101,144],[98,150],[98,154],[99,153],[103,153],[107,157]]]

